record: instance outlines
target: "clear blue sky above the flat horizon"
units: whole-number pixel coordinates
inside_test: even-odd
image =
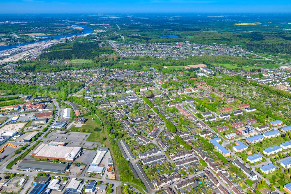
[[[291,13],[290,0],[0,0],[1,13]]]

